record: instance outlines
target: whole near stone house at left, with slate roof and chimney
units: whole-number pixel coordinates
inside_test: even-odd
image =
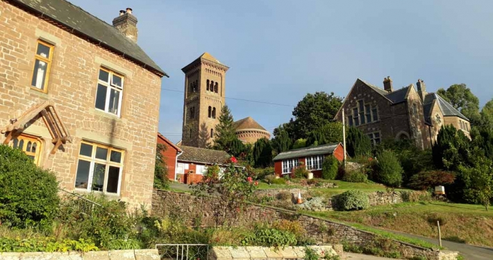
[[[162,69],[113,26],[64,0],[0,4],[0,142],[67,191],[151,204]]]

